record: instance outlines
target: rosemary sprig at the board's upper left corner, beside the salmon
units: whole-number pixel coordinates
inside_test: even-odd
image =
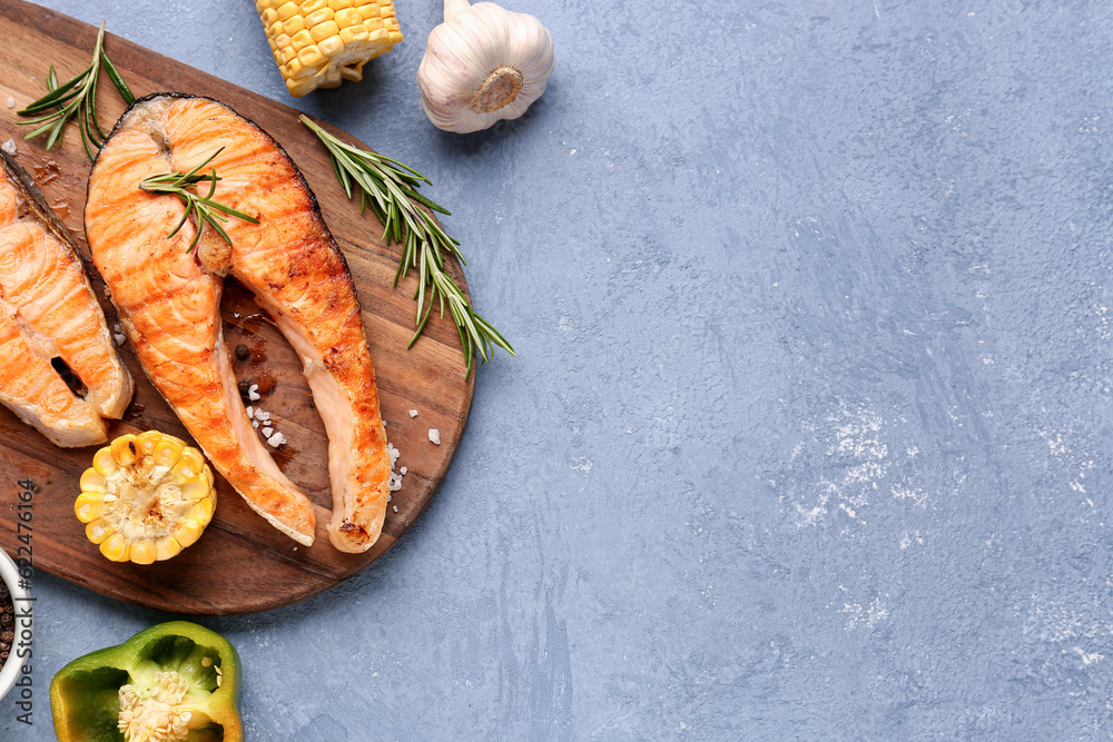
[[[58,76],[55,68],[50,66],[50,73],[47,76],[47,89],[49,92],[39,98],[21,111],[20,116],[35,116],[46,113],[30,121],[20,121],[20,126],[36,126],[31,133],[23,139],[33,139],[43,133],[48,133],[47,149],[50,149],[61,138],[66,128],[66,122],[71,118],[77,118],[78,130],[81,132],[81,144],[85,146],[85,154],[89,159],[95,159],[96,150],[105,145],[108,135],[100,128],[97,120],[97,80],[100,77],[100,69],[104,68],[108,78],[120,92],[124,101],[128,105],[135,102],[135,96],[128,83],[120,77],[116,66],[105,53],[105,24],[100,24],[100,32],[97,33],[97,43],[92,48],[92,61],[83,72],[63,85],[58,85]],[[56,109],[52,112],[50,109]]]

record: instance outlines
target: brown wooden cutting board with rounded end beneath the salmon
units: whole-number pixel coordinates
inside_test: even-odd
[[[89,63],[97,29],[17,0],[0,0],[0,141],[18,144],[17,160],[35,177],[47,201],[73,233],[88,258],[81,214],[90,162],[76,127],[49,152],[42,141],[24,142],[16,111],[46,92],[45,77],[52,63],[60,80]],[[264,611],[311,597],[341,583],[382,556],[402,537],[429,505],[452,459],[471,408],[474,374],[464,378],[465,358],[452,321],[434,317],[410,350],[413,333],[413,276],[393,288],[398,246],[387,247],[372,215],[361,216],[356,204],[336,182],[327,154],[302,126],[293,108],[244,90],[190,67],[159,56],[109,33],[106,51],[137,97],[156,91],[180,91],[215,98],[252,119],[282,144],[301,168],[321,202],[321,210],[347,257],[363,307],[380,386],[387,437],[401,451],[406,466],[403,488],[394,493],[378,543],[361,555],[342,554],[328,542],[325,524],[332,495],[328,485],[327,439],[313,406],[302,365],[250,294],[228,279],[223,304],[226,340],[244,345],[249,357],[233,356],[237,377],[258,384],[256,403],[270,412],[288,443],[274,453],[278,466],[301,486],[317,509],[317,534],[312,547],[298,546],[252,512],[240,496],[217,477],[217,512],[213,523],[179,556],[150,566],[115,564],[85,537],[73,515],[78,479],[96,448],[62,449],[0,407],[0,546],[16,555],[17,482],[31,479],[33,498],[33,563],[37,568],[114,598],[179,614],[232,614]],[[14,108],[7,107],[8,98]],[[99,93],[100,120],[115,122],[125,105],[106,76]],[[332,129],[335,131],[335,129]],[[104,283],[87,263],[93,289],[102,299],[109,325],[116,310],[105,298]],[[455,275],[463,280],[456,266]],[[137,392],[124,421],[109,436],[158,428],[190,439],[155,392],[130,348],[124,358],[136,378]],[[416,417],[408,410],[416,409]],[[441,445],[429,441],[439,428]]]

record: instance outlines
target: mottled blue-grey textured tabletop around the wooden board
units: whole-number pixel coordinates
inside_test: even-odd
[[[1104,3],[520,0],[556,71],[465,137],[420,107],[434,0],[299,101],[250,2],[46,4],[425,171],[519,352],[385,558],[204,621],[250,739],[1113,736]],[[4,739],[167,617],[36,587]]]

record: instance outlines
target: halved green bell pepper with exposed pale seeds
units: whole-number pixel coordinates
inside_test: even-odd
[[[50,708],[59,742],[242,742],[239,655],[204,626],[161,623],[59,670]]]

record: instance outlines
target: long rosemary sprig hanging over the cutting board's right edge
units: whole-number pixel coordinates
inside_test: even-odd
[[[429,178],[397,160],[347,145],[307,117],[301,118],[302,123],[317,135],[332,155],[333,169],[347,197],[352,198],[353,184],[358,186],[361,212],[370,205],[383,222],[386,244],[400,243],[403,246],[402,259],[394,274],[394,285],[397,286],[398,280],[411,268],[417,269],[417,289],[414,291],[417,300],[417,329],[410,338],[408,347],[412,348],[421,337],[433,305],[440,304],[442,317],[445,305],[449,306],[456,332],[460,333],[460,343],[467,356],[464,378],[472,373],[472,359],[476,352],[484,363],[494,353],[494,346],[512,356],[516,355],[506,338],[475,314],[464,293],[445,270],[446,256],[455,256],[461,264],[466,261],[460,253],[460,243],[450,237],[432,216],[414,205],[417,201],[434,211],[450,214],[444,207],[417,192],[423,182],[429,184]]]

